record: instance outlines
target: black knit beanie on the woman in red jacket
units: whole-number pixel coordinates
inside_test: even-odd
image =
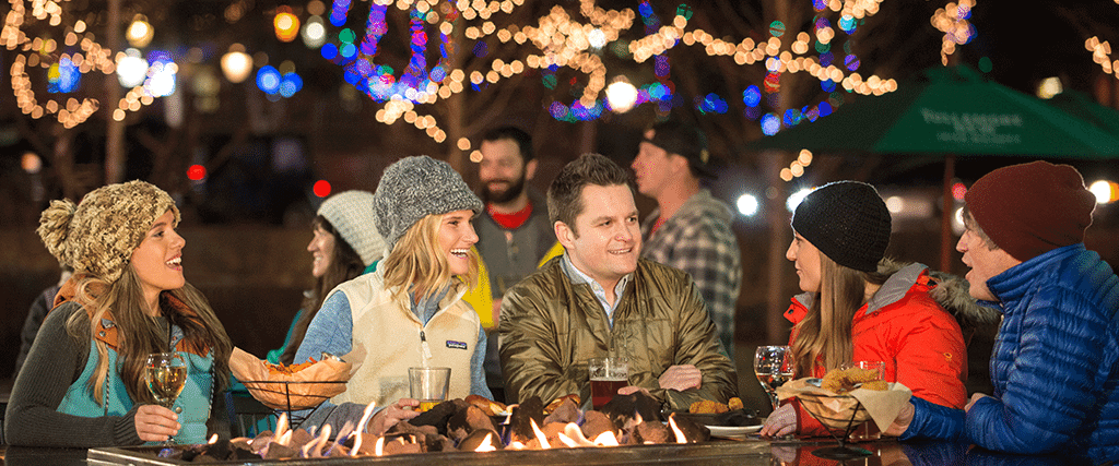
[[[890,210],[874,187],[837,181],[805,197],[792,229],[836,264],[874,272],[890,245]]]

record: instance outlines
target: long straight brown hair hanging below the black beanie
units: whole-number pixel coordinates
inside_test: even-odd
[[[836,264],[824,253],[820,255],[820,292],[814,294],[808,315],[793,332],[792,356],[797,377],[811,377],[817,358],[822,356],[828,370],[850,362],[854,353],[852,322],[855,313],[866,304],[866,285],[882,285],[890,278],[883,270],[890,259],[878,261],[877,272],[862,272]]]

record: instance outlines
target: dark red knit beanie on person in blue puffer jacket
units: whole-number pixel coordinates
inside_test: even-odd
[[[987,173],[963,199],[995,245],[1023,261],[1083,242],[1096,208],[1076,169],[1045,161]]]

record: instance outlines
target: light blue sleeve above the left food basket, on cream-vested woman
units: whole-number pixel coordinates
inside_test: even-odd
[[[344,355],[352,348],[354,315],[350,313],[349,299],[345,293],[335,292],[327,297],[319,313],[307,326],[303,343],[299,345],[292,362],[298,364],[310,358],[319,360],[323,352]]]

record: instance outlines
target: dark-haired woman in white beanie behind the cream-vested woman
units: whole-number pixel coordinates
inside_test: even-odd
[[[339,192],[319,206],[311,221],[313,236],[307,245],[314,288],[303,293],[302,307],[295,313],[284,344],[269,351],[269,362],[291,364],[327,293],[342,282],[373,272],[374,264],[384,257],[385,240],[377,232],[375,219],[373,193],[368,191]]]

